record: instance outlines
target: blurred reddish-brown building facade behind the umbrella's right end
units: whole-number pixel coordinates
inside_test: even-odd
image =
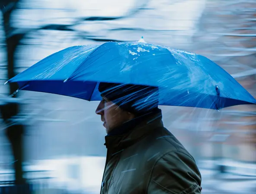
[[[194,37],[195,52],[208,56],[256,97],[256,1],[208,1]],[[235,90],[236,88],[234,88]],[[221,111],[214,134],[227,135],[215,157],[256,162],[256,106]],[[207,152],[205,152],[207,154]]]

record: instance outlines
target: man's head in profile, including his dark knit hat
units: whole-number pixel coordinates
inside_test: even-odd
[[[96,109],[107,133],[158,106],[158,88],[132,84],[100,83],[102,100]]]

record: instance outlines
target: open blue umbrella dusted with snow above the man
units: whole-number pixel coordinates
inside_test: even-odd
[[[20,90],[101,100],[99,82],[159,87],[159,104],[221,109],[255,98],[205,56],[139,42],[74,46],[10,79]]]

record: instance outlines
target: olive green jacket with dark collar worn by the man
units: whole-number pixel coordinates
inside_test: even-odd
[[[194,158],[163,127],[162,116],[107,135],[101,194],[201,194]]]

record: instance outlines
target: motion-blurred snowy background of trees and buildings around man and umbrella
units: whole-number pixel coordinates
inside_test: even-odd
[[[31,193],[100,191],[106,132],[98,102],[31,91],[10,98],[17,86],[4,85],[66,47],[144,36],[207,56],[256,97],[255,0],[0,0],[0,9],[1,194],[25,183]],[[256,106],[160,108],[198,163],[202,194],[256,193]]]

